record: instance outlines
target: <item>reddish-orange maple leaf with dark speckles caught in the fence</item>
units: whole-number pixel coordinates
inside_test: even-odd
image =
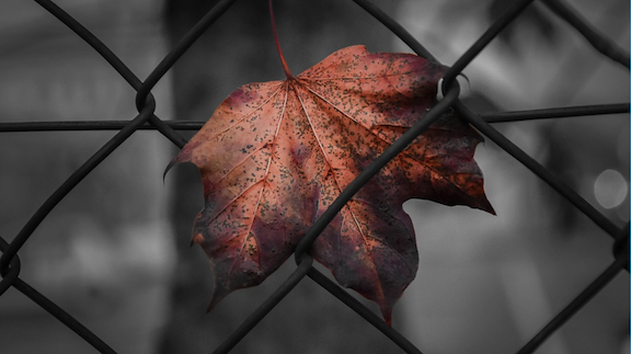
[[[193,240],[210,260],[213,308],[257,285],[294,252],[355,176],[436,104],[446,67],[410,54],[337,50],[284,81],[232,92],[168,169],[193,162],[204,209]],[[392,307],[418,266],[410,198],[493,213],[473,160],[481,137],[454,112],[372,178],[319,236],[314,260],[337,282]]]

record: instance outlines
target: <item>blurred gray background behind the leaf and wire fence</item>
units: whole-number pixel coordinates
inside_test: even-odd
[[[375,1],[441,62],[452,64],[506,1]],[[215,1],[56,1],[140,78]],[[571,2],[629,50],[629,2]],[[347,1],[275,2],[294,73],[348,45],[410,52]],[[478,112],[629,100],[629,72],[598,55],[539,3],[466,70]],[[241,0],[152,90],[163,119],[206,121],[233,89],[283,78],[266,1]],[[0,121],[131,119],[134,90],[35,2],[0,3]],[[629,220],[628,115],[496,124],[619,226]],[[0,134],[0,236],[37,207],[115,132]],[[192,132],[183,135],[191,136]],[[289,272],[237,292],[206,313],[208,262],[190,248],[202,208],[198,173],[138,132],[37,228],[20,252],[22,279],[118,353],[208,353]],[[410,201],[421,256],[393,326],[424,353],[514,353],[612,261],[611,240],[492,141],[481,144],[497,216]],[[360,299],[363,300],[363,299]],[[376,307],[366,302],[370,308]],[[619,275],[537,353],[629,353],[629,276]],[[0,297],[0,352],[92,353],[22,294]],[[381,333],[305,279],[233,353],[399,353]]]

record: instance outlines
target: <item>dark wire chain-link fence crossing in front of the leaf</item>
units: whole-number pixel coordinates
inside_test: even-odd
[[[85,163],[78,168],[35,212],[28,221],[22,227],[20,232],[8,242],[4,236],[0,236],[0,301],[8,288],[13,287],[30,298],[32,301],[51,313],[60,322],[79,334],[83,340],[91,344],[101,353],[115,353],[104,341],[91,332],[72,316],[64,309],[43,296],[35,288],[30,286],[20,277],[21,262],[19,258],[20,250],[35,229],[43,222],[48,214],[56,208],[59,202],[72,191],[81,181],[89,175],[102,161],[115,151],[126,139],[138,130],[153,129],[169,139],[175,146],[182,148],[186,144],[177,130],[199,129],[203,122],[174,122],[163,121],[154,114],[156,100],[151,90],[158,81],[169,71],[177,59],[195,43],[195,41],[210,27],[236,0],[219,1],[205,16],[195,24],[192,30],[182,37],[180,43],[164,57],[164,59],[151,71],[145,81],[141,81],[136,75],[104,43],[94,36],[76,19],[57,7],[51,1],[35,0],[41,7],[46,9],[50,14],[66,24],[103,59],[105,59],[127,83],[134,88],[136,93],[136,106],[138,115],[131,121],[84,121],[84,122],[21,122],[21,123],[0,123],[0,133],[9,132],[55,132],[55,130],[97,130],[114,129],[117,134],[99,149]],[[437,59],[426,50],[410,33],[408,33],[397,21],[382,12],[378,7],[366,0],[355,0],[355,2],[366,10],[369,14],[379,20],[392,33],[401,38],[413,52],[429,60]],[[612,261],[597,278],[593,281],[583,292],[581,292],[567,306],[561,310],[548,323],[541,323],[542,330],[537,333],[530,341],[517,352],[519,354],[534,353],[536,350],[560,329],[570,318],[572,318],[581,308],[587,304],[596,294],[598,294],[607,284],[622,270],[629,271],[629,224],[624,228],[618,227],[612,220],[595,208],[590,203],[585,201],[578,193],[571,189],[562,179],[554,175],[541,163],[517,147],[510,139],[501,134],[493,127],[493,123],[516,122],[526,119],[542,118],[561,118],[571,116],[588,116],[603,114],[620,114],[629,112],[629,103],[618,104],[599,104],[586,106],[555,107],[532,111],[502,112],[480,114],[472,111],[459,100],[460,88],[457,77],[462,70],[475,58],[486,45],[493,41],[506,26],[523,13],[532,0],[517,0],[510,2],[507,10],[497,18],[489,30],[462,55],[446,73],[441,89],[444,98],[427,114],[427,117],[411,128],[412,134],[406,134],[395,144],[397,148],[387,150],[382,156],[376,159],[363,173],[341,194],[333,205],[318,219],[303,237],[296,249],[295,261],[297,267],[294,273],[279,286],[243,323],[229,336],[222,344],[215,350],[215,353],[229,352],[243,336],[245,336],[294,287],[306,276],[313,279],[331,295],[335,296],[366,321],[381,331],[386,336],[393,341],[401,350],[406,353],[421,353],[405,336],[395,329],[388,327],[380,317],[372,310],[357,301],[346,290],[337,286],[324,274],[320,273],[312,266],[312,259],[309,256],[309,248],[324,230],[326,225],[342,209],[372,175],[379,172],[390,159],[404,149],[417,135],[422,134],[433,121],[438,118],[443,112],[452,107],[467,119],[473,127],[481,132],[486,138],[494,141],[497,146],[509,153],[515,160],[519,161],[538,178],[554,189],[563,198],[574,205],[576,209],[587,216],[600,229],[611,238]],[[548,7],[557,16],[564,20],[567,25],[577,31],[596,50],[603,56],[608,57],[615,62],[629,69],[629,53],[619,48],[612,41],[604,37],[592,27],[589,23],[582,19],[574,9],[561,0],[541,0],[542,4]],[[570,123],[571,124],[571,123]],[[1,350],[0,343],[0,350]]]

